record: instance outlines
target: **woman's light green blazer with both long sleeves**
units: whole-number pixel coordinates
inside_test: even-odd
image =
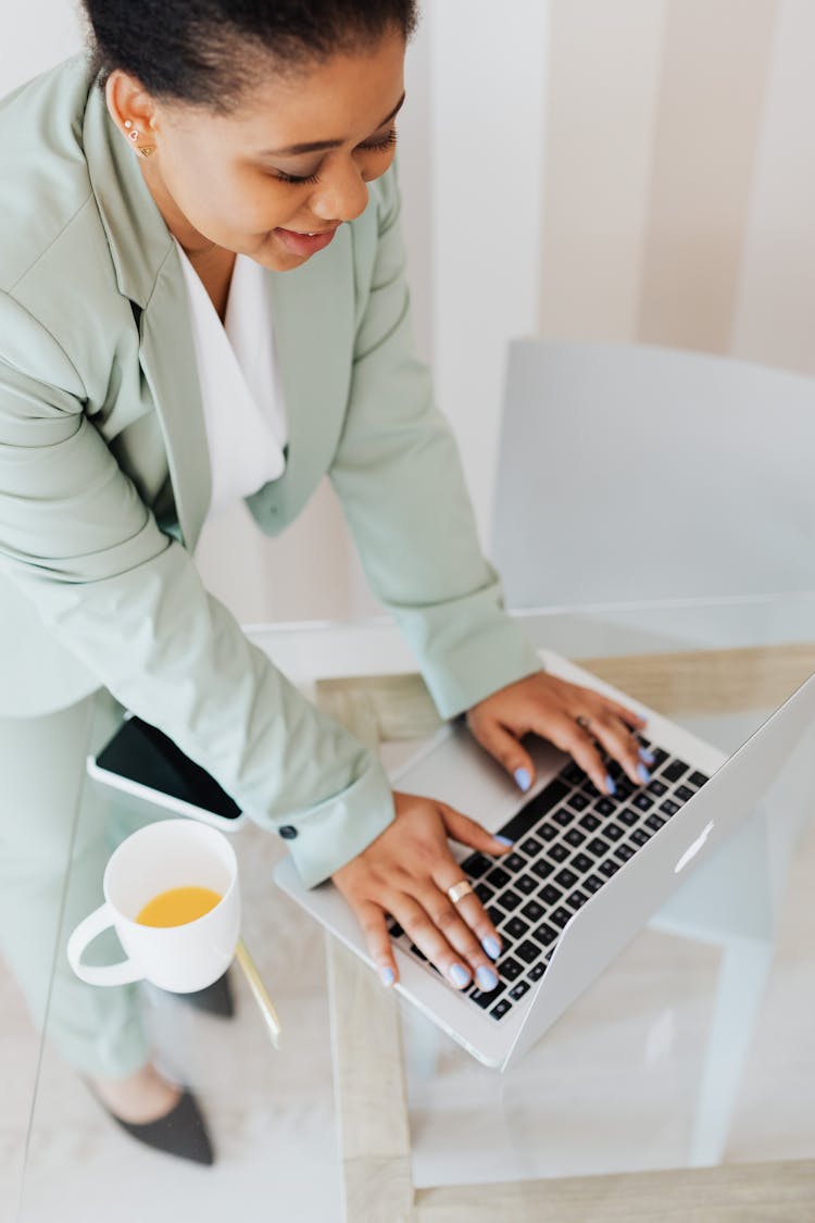
[[[0,103],[0,713],[106,686],[285,828],[314,884],[393,818],[390,789],[202,585],[210,465],[185,281],[84,56]],[[269,273],[288,456],[247,504],[275,534],[327,472],[451,717],[539,663],[413,355],[398,207],[391,171],[325,252]]]

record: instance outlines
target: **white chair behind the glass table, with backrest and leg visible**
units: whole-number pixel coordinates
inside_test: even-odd
[[[517,341],[491,548],[507,605],[811,591],[814,456],[810,378],[654,347]],[[674,627],[687,642],[681,613]],[[619,643],[624,653],[622,629]],[[725,1151],[794,834],[775,805],[756,811],[651,922],[722,948],[694,1166]]]

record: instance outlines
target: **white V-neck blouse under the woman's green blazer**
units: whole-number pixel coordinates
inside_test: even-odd
[[[221,324],[198,273],[178,242],[176,247],[187,283],[209,445],[209,520],[282,476],[286,405],[265,270],[244,254],[235,257]]]

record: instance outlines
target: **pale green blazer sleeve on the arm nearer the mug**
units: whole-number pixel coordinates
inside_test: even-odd
[[[2,294],[0,565],[100,684],[259,824],[288,826],[308,885],[393,818],[379,759],[308,702],[204,588],[83,413],[65,352]]]

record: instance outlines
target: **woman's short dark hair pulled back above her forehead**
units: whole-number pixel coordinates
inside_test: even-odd
[[[258,81],[376,43],[406,39],[417,0],[83,0],[92,68],[104,88],[115,68],[155,97],[228,113]]]

